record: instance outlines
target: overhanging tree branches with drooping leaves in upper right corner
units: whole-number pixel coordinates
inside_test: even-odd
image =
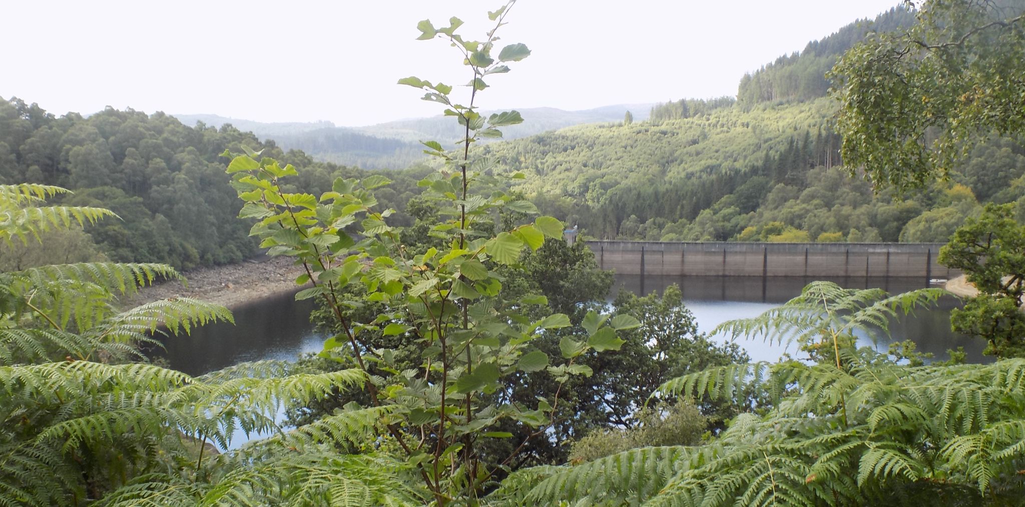
[[[830,72],[844,162],[876,189],[945,178],[972,139],[1025,130],[1025,7],[906,4],[917,8],[909,30],[870,36]]]

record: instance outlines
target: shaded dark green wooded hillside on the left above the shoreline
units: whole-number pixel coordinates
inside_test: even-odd
[[[363,174],[315,162],[301,152],[283,153],[274,141],[262,143],[231,126],[188,127],[163,113],[114,109],[88,118],[77,113],[57,118],[18,98],[0,100],[0,183],[65,186],[74,191],[65,204],[107,207],[121,218],[88,227],[91,239],[50,239],[50,253],[73,242],[75,250],[96,250],[111,260],[179,268],[237,262],[254,254],[256,242],[248,236],[250,224],[237,218],[235,191],[223,174],[228,160],[220,157],[243,144],[308,168],[303,183],[322,192],[335,176]],[[381,201],[405,209],[416,189],[411,177],[398,176],[396,185],[379,195]],[[400,223],[408,222],[403,216]],[[0,248],[8,249],[7,258],[23,254],[9,251],[17,245]]]

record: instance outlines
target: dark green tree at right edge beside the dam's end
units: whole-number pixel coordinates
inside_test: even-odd
[[[1025,354],[1025,225],[1015,220],[1014,205],[988,204],[978,218],[967,218],[939,261],[963,271],[980,292],[951,312],[954,330],[986,339],[985,353]]]

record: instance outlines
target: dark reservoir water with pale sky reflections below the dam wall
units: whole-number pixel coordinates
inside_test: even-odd
[[[925,287],[920,278],[844,277],[831,280],[843,287],[883,288],[897,294]],[[702,332],[719,324],[752,318],[798,295],[812,279],[803,277],[682,277],[661,274],[617,274],[615,291],[629,290],[638,294],[661,293],[670,284],[681,287],[684,303],[694,313]],[[985,343],[950,331],[950,310],[957,299],[950,296],[940,305],[920,308],[913,315],[891,325],[891,336],[879,333],[861,336],[859,345],[886,351],[891,341],[911,339],[918,350],[932,352],[937,360],[946,360],[946,350],[963,346],[968,361],[986,362],[982,355]],[[192,335],[170,336],[163,341],[163,356],[170,368],[190,375],[201,375],[242,362],[261,360],[293,361],[302,352],[317,352],[325,337],[310,324],[313,300],[295,301],[291,294],[280,294],[234,310],[236,325],[215,324],[194,329]],[[714,337],[725,341],[725,337]],[[761,339],[745,340],[740,346],[752,361],[776,361],[784,352],[799,357],[798,351],[765,343]]]

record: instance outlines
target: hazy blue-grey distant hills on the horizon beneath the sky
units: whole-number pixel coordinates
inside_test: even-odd
[[[520,109],[524,122],[502,129],[505,139],[587,123],[621,122],[626,112],[646,120],[652,104],[615,104],[584,111],[555,108]],[[492,112],[483,111],[484,114]],[[261,140],[273,139],[283,150],[301,150],[318,160],[367,169],[402,169],[423,159],[420,140],[454,141],[462,136],[458,125],[443,116],[397,120],[366,127],[337,127],[331,122],[263,123],[217,115],[171,115],[186,125],[202,122],[220,128],[231,124]]]

